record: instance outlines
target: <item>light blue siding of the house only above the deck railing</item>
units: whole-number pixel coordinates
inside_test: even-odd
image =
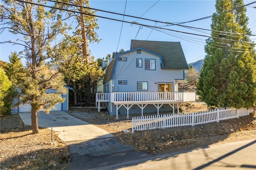
[[[124,56],[123,56],[124,55]],[[137,54],[136,51],[120,55],[127,57],[127,61],[116,61],[112,75],[112,85],[120,92],[136,92],[137,82],[148,82],[148,91],[157,92],[158,82],[174,82],[176,79],[184,79],[183,70],[161,69],[160,57],[146,51]],[[156,70],[145,70],[145,60],[142,67],[136,67],[137,58],[156,59]],[[118,85],[118,80],[127,81],[127,85]],[[157,85],[155,85],[155,82]]]

